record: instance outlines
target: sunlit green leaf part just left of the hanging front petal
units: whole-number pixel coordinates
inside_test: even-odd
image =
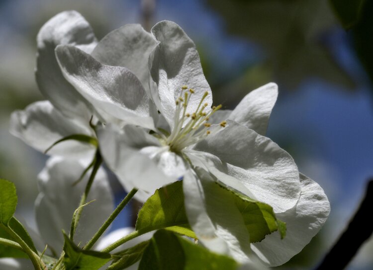
[[[136,230],[141,234],[168,227],[195,238],[185,212],[182,181],[158,189],[144,203],[137,217]]]

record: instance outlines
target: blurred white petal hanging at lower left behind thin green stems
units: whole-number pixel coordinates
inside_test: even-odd
[[[62,230],[70,231],[71,219],[79,206],[88,176],[76,186],[85,168],[78,162],[52,158],[39,174],[40,194],[35,202],[36,223],[48,246],[56,253],[62,251],[64,238]],[[94,202],[85,206],[79,221],[74,241],[86,243],[106,220],[114,208],[113,196],[103,170],[99,170],[93,182],[87,201]]]

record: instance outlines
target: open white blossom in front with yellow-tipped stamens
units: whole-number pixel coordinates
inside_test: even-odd
[[[211,115],[215,111],[208,109],[211,91],[193,42],[169,21],[156,24],[152,34],[158,45],[149,63],[157,88],[152,81],[149,85],[161,113],[158,129],[151,135],[135,125],[101,128],[98,138],[106,163],[128,190],[140,189],[137,198],[143,200],[160,186],[184,178],[188,219],[205,246],[241,262],[253,260],[249,258],[253,250],[271,266],[283,264],[321,228],[329,213],[329,202],[316,183],[299,177],[291,156],[263,136],[277,98],[276,84],[251,92],[231,112]],[[77,89],[92,99],[111,97],[111,106],[121,108],[119,93],[108,87],[96,90],[90,84],[96,82],[90,67],[79,68],[81,63],[93,62],[87,54],[65,46],[57,48],[57,57],[65,77]],[[109,105],[95,102],[95,106]],[[212,123],[229,120],[209,125],[206,118],[211,118]],[[201,170],[191,170],[189,162]],[[217,191],[209,185],[214,181],[273,206],[288,222],[287,239],[280,241],[270,235],[261,243],[249,244],[250,232],[239,221],[237,209],[224,200],[214,200]]]

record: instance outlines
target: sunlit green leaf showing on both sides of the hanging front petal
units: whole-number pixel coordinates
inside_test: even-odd
[[[216,184],[225,190],[227,196],[233,196],[250,234],[250,242],[260,242],[267,234],[271,234],[279,228],[281,238],[283,238],[286,225],[276,218],[270,205],[252,200],[221,184]],[[197,238],[190,229],[187,220],[182,181],[158,189],[139,211],[136,230],[141,234],[164,228],[191,238]]]

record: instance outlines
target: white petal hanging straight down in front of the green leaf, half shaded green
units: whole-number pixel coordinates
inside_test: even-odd
[[[199,241],[241,263],[250,261],[249,233],[230,193],[203,170],[198,176],[187,172],[183,190],[188,221]]]

